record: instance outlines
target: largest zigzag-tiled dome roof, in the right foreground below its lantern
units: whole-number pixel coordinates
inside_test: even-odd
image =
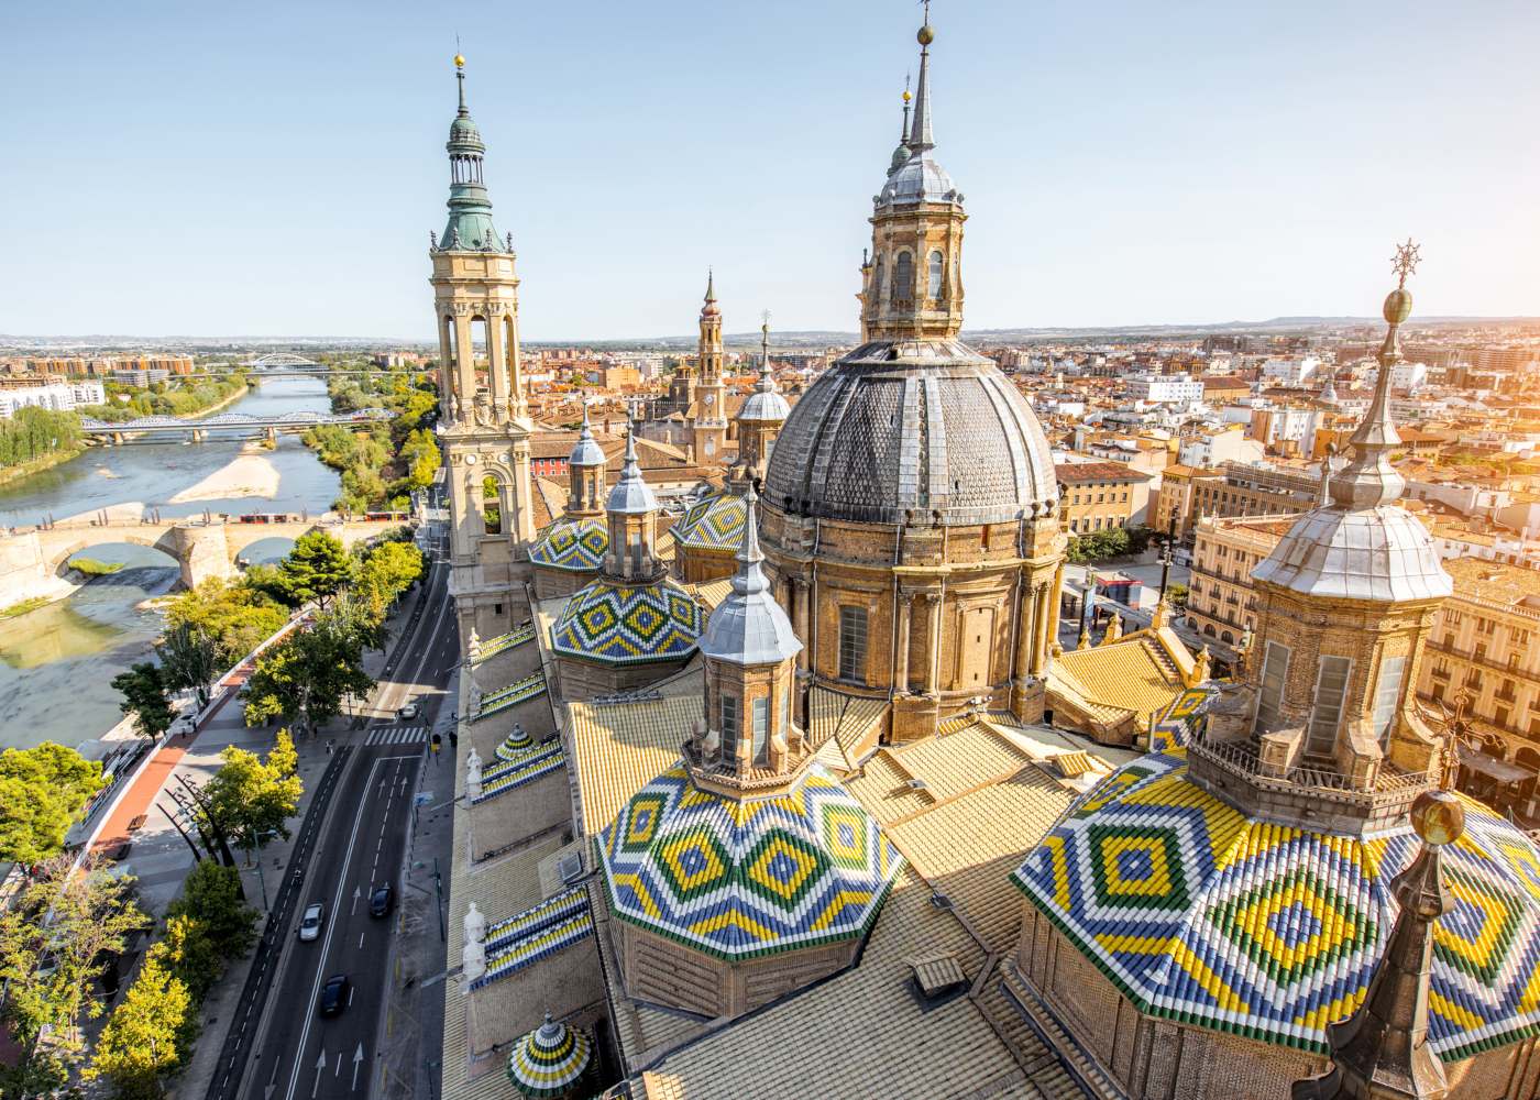
[[[1540,852],[1461,801],[1429,998],[1445,1061],[1540,1034]],[[1391,881],[1418,846],[1404,823],[1351,837],[1247,818],[1172,749],[1107,776],[1012,881],[1141,1012],[1326,1052],[1326,1026],[1368,995]]]

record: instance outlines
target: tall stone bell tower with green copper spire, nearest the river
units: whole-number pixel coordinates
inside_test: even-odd
[[[439,328],[439,434],[448,464],[451,558],[462,644],[521,621],[530,507],[530,421],[519,362],[519,279],[513,236],[499,237],[482,176],[487,145],[465,108],[465,59],[454,57],[459,111],[450,125],[450,217],[430,234]],[[477,353],[479,351],[479,353]]]

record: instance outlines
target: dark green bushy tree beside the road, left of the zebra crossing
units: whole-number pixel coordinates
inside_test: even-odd
[[[322,615],[308,630],[294,632],[257,658],[245,689],[246,724],[282,718],[314,732],[342,713],[343,698],[373,687],[357,630]]]

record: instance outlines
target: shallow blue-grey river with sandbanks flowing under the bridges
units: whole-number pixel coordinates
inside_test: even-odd
[[[268,414],[326,411],[320,379],[285,379],[253,390],[228,411]],[[206,496],[194,487],[220,470],[256,470],[242,478],[263,496]],[[331,507],[339,481],[297,436],[279,436],[276,450],[253,448],[240,439],[211,438],[203,444],[125,444],[92,447],[52,470],[0,487],[0,527],[63,519],[119,504],[142,504],[162,516],[208,511],[310,511]],[[199,499],[186,499],[192,491]],[[226,490],[234,491],[234,490]],[[182,496],[180,502],[176,498]],[[253,561],[282,556],[280,539],[257,542]],[[106,733],[120,718],[111,679],[134,661],[146,659],[160,632],[160,616],[139,604],[177,584],[174,561],[149,547],[112,544],[86,553],[125,567],[92,581],[68,599],[14,619],[0,619],[0,749],[40,741],[79,744]]]

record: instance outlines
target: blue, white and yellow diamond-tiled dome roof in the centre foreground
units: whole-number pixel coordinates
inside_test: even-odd
[[[594,843],[616,917],[725,960],[865,935],[904,864],[818,764],[781,796],[742,801],[676,764]]]

